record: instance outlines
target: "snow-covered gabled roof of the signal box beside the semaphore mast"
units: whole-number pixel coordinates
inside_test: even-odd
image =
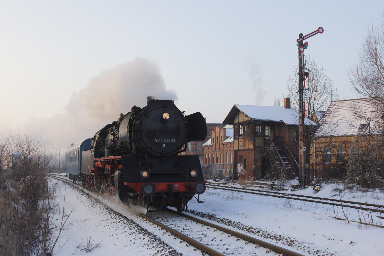
[[[283,122],[286,125],[299,125],[299,114],[295,109],[286,109],[277,106],[253,106],[253,105],[233,105],[228,116],[225,117],[223,124],[233,124],[237,114],[242,111],[252,120]],[[305,118],[305,124],[317,126],[310,119]]]

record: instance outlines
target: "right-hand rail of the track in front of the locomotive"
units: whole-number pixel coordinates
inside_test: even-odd
[[[256,245],[258,244],[258,245],[260,245],[260,246],[262,246],[264,248],[267,248],[267,249],[270,249],[270,250],[274,251],[275,253],[281,253],[281,254],[283,254],[285,256],[304,256],[303,254],[296,253],[295,251],[291,251],[291,250],[285,249],[283,247],[277,246],[275,244],[268,243],[266,241],[254,238],[252,236],[245,235],[245,234],[237,232],[235,230],[231,230],[229,228],[225,228],[223,226],[216,225],[216,224],[214,224],[212,222],[202,220],[202,219],[194,217],[192,215],[185,214],[185,213],[178,213],[177,211],[169,209],[169,208],[166,208],[166,210],[170,211],[172,213],[175,213],[177,215],[180,215],[182,217],[188,218],[190,220],[193,220],[193,221],[195,221],[197,223],[203,224],[205,226],[210,226],[212,228],[216,228],[217,230],[223,231],[224,233],[227,233],[227,234],[230,234],[230,235],[235,236],[237,238],[243,239],[244,241],[249,241],[250,243],[253,243],[253,244],[256,244]]]

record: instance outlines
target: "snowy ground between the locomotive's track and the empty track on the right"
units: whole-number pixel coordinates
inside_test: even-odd
[[[190,213],[250,231],[282,247],[305,247],[303,254],[384,255],[384,228],[331,218],[344,218],[340,207],[213,188],[201,198],[204,204],[190,201]],[[349,219],[359,218],[358,210],[344,208],[344,212]],[[366,212],[362,214],[368,218]]]

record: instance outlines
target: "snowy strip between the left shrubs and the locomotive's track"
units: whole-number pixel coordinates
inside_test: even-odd
[[[201,255],[201,252],[194,251],[192,246],[187,247],[185,242],[179,243],[181,240],[168,236],[169,233],[137,217],[124,207],[118,207],[107,200],[103,202],[104,205],[87,192],[65,182],[58,181],[57,185],[57,200],[61,210],[65,194],[66,213],[72,209],[73,212],[54,249],[54,256]],[[60,215],[56,219],[57,224],[60,224]],[[101,247],[89,253],[79,251],[76,246],[81,241],[86,241],[89,236],[94,242],[100,241]]]

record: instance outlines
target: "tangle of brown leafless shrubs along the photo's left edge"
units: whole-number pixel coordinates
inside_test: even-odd
[[[52,151],[33,133],[0,138],[0,242],[4,256],[51,255],[55,187]]]

